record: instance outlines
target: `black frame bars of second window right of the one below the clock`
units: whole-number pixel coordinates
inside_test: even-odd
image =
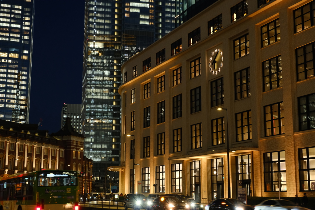
[[[276,60],[276,65],[272,65],[272,59],[275,59]],[[279,60],[280,60],[280,63],[279,63]],[[268,62],[268,64],[267,64]],[[268,67],[267,67],[268,65]],[[265,68],[266,66],[266,68]],[[276,72],[272,72],[272,67],[273,66],[276,66]],[[268,75],[265,75],[265,71],[268,71]],[[270,58],[268,60],[265,60],[262,62],[262,82],[263,82],[263,91],[268,91],[266,89],[266,86],[268,86],[267,84],[269,84],[269,90],[273,90],[273,89],[276,89],[276,88],[280,88],[282,87],[282,60],[281,60],[281,55],[277,55],[276,57],[273,57],[273,58]],[[273,80],[272,81],[272,74],[277,74],[277,80]],[[268,77],[269,79],[269,82],[266,82],[265,83],[265,78]],[[281,78],[280,78],[281,77]],[[277,87],[276,88],[272,88],[272,83],[277,81]]]

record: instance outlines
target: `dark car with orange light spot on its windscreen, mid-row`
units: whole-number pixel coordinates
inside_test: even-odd
[[[160,196],[152,201],[152,210],[187,210],[188,201],[175,196]]]

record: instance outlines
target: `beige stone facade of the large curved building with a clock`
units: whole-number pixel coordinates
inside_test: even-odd
[[[224,135],[226,136],[227,132],[227,121],[229,147],[230,150],[236,150],[236,152],[230,152],[232,198],[237,196],[239,180],[237,178],[239,161],[237,160],[240,156],[244,158],[243,164],[245,165],[249,164],[246,157],[249,157],[251,160],[250,165],[242,165],[243,167],[247,167],[248,170],[243,171],[242,175],[246,177],[246,174],[248,175],[249,173],[251,176],[250,179],[244,179],[243,182],[243,184],[248,184],[246,186],[243,185],[243,187],[247,187],[248,193],[251,196],[278,196],[277,174],[272,174],[272,172],[264,173],[264,170],[267,171],[266,168],[267,166],[270,167],[270,165],[273,167],[272,171],[277,171],[275,170],[276,168],[281,171],[281,196],[293,197],[295,194],[302,196],[304,193],[302,189],[306,190],[308,196],[315,196],[315,188],[312,187],[312,183],[315,182],[315,174],[313,175],[312,170],[302,171],[301,174],[307,173],[304,176],[307,180],[306,182],[301,182],[300,180],[304,180],[304,178],[301,178],[302,175],[299,171],[299,151],[309,151],[309,153],[303,153],[303,155],[301,153],[301,157],[305,155],[307,159],[303,160],[304,162],[308,162],[309,158],[315,155],[312,152],[312,148],[301,149],[315,147],[315,129],[312,129],[315,128],[315,122],[312,121],[315,120],[315,114],[312,112],[315,105],[311,101],[313,99],[312,94],[315,93],[315,78],[314,73],[312,73],[312,65],[315,59],[315,26],[312,22],[311,27],[307,28],[306,23],[303,23],[305,29],[303,28],[303,30],[296,32],[295,23],[298,20],[295,19],[297,13],[294,14],[294,10],[301,8],[303,5],[308,5],[311,2],[315,7],[315,3],[309,0],[274,0],[258,7],[256,0],[249,0],[247,2],[248,13],[238,20],[231,22],[231,8],[240,3],[240,0],[217,1],[162,39],[136,54],[122,66],[122,75],[127,76],[125,82],[119,88],[119,93],[122,96],[121,166],[125,166],[124,169],[120,169],[120,176],[124,178],[120,179],[120,191],[122,193],[129,193],[132,189],[130,187],[130,169],[133,168],[133,159],[130,158],[132,150],[130,145],[133,136],[127,136],[127,134],[130,134],[135,136],[135,163],[139,164],[134,166],[135,192],[148,195],[148,188],[150,187],[150,193],[154,193],[155,187],[153,184],[157,183],[157,175],[160,174],[156,173],[156,166],[165,165],[165,184],[163,184],[165,193],[176,193],[172,190],[172,178],[176,180],[176,175],[172,175],[172,164],[182,163],[182,192],[177,193],[196,197],[198,196],[196,195],[196,190],[200,189],[198,200],[203,203],[218,198],[220,190],[224,191],[220,196],[227,197],[228,169],[226,167],[226,144],[220,144],[220,140],[216,141],[217,145],[213,143],[213,134],[215,131],[213,126],[216,125],[218,126],[217,128],[220,126],[220,123],[215,124],[213,120],[224,117]],[[208,35],[208,21],[220,14],[222,14],[222,28]],[[276,22],[277,19],[278,22]],[[273,22],[276,24],[275,27],[278,27],[277,33],[280,31],[279,29],[281,29],[281,32],[277,35],[276,42],[262,47],[262,27]],[[200,41],[192,44],[192,46],[188,46],[188,34],[198,27],[200,27]],[[272,27],[269,28],[269,31],[271,29]],[[247,34],[248,36],[246,36]],[[270,31],[269,36],[271,34],[272,31]],[[246,37],[245,42],[249,41],[247,45],[245,44],[249,50],[245,48],[245,51],[247,50],[246,53],[245,51],[241,51],[241,57],[235,59],[235,46],[243,42],[245,38],[243,39],[242,37]],[[182,40],[181,51],[175,55],[171,55],[172,43],[175,43],[180,38]],[[245,45],[242,46],[242,49]],[[309,61],[307,63],[309,70],[305,70],[305,78],[299,79],[303,75],[301,76],[301,74],[297,73],[297,69],[299,71],[301,69],[296,64],[297,62],[301,63],[297,58],[297,48],[306,45],[308,47],[311,46],[311,48],[307,49],[312,51],[312,55],[308,54],[304,56],[309,56],[306,58]],[[165,48],[165,60],[162,59],[161,63],[154,64],[156,63],[154,61],[156,53],[163,48]],[[304,54],[307,53],[306,51],[304,51]],[[219,53],[217,54],[217,52]],[[280,55],[281,58],[279,57]],[[151,57],[151,66],[149,70],[143,71],[143,62],[149,57]],[[192,64],[196,64],[191,62],[198,58],[200,58],[200,73],[194,73],[191,78]],[[278,65],[277,70],[275,70],[271,67],[272,61],[270,61],[269,65],[264,63],[272,58],[277,58],[278,63],[281,62],[282,77],[279,75],[281,65]],[[215,68],[213,60],[217,61]],[[135,66],[137,72],[136,77],[133,77],[133,68]],[[181,67],[181,82],[174,85],[173,71],[179,67]],[[247,75],[245,76],[248,80],[242,86],[242,90],[245,90],[244,94],[241,93],[243,97],[238,99],[236,84],[238,81],[242,82],[246,77],[238,79],[237,72],[245,69],[247,71]],[[270,82],[268,83],[270,85],[266,84],[264,89],[266,71],[271,72],[271,79],[272,75],[278,72],[278,84]],[[277,72],[275,73],[274,71]],[[243,76],[244,74],[245,71],[243,71]],[[165,75],[165,84],[159,78],[163,75]],[[214,82],[221,78],[223,78],[223,85],[218,87],[218,82]],[[150,96],[144,99],[144,85],[148,82],[150,82]],[[217,87],[212,88],[211,86],[215,84]],[[201,90],[200,94],[198,90],[197,92],[195,91],[195,88],[198,87],[201,87],[199,89]],[[270,90],[266,90],[270,87],[272,87]],[[218,97],[220,98],[219,92],[221,90],[224,90],[224,93],[222,93],[224,95],[224,102],[222,105],[218,105],[218,103],[220,104]],[[179,94],[181,94],[181,116],[174,118],[173,97]],[[196,96],[197,94],[199,95]],[[212,99],[213,94],[217,97],[215,101]],[[308,103],[304,107],[308,108],[306,110],[306,119],[303,119],[307,121],[308,127],[306,126],[305,129],[300,122],[302,116],[299,114],[299,100],[302,99],[299,97],[306,95],[308,95],[306,97]],[[194,104],[192,100],[196,97],[199,97],[198,99],[201,97],[201,101],[195,101]],[[165,105],[160,103],[162,101],[165,101]],[[200,102],[201,107],[196,106],[198,102]],[[283,102],[283,106],[282,104],[272,106],[281,102]],[[278,114],[281,112],[281,117],[283,117],[281,120],[272,121],[273,129],[269,130],[265,126],[268,123],[270,125],[270,122],[265,122],[268,121],[268,107],[266,107],[268,105],[272,109],[279,108]],[[144,108],[148,106],[150,106],[150,126],[144,128]],[[161,122],[161,113],[158,118],[161,106],[165,122],[163,120]],[[283,110],[281,110],[280,106],[283,107]],[[217,110],[218,107],[227,109],[227,116],[225,110]],[[133,111],[135,111],[134,130],[131,129],[131,113]],[[245,113],[245,111],[248,112]],[[242,115],[240,115],[241,113]],[[251,114],[251,119],[249,117],[246,118],[246,114]],[[269,116],[278,118],[278,114],[274,113]],[[243,118],[237,121],[238,116]],[[227,120],[226,117],[228,117]],[[161,123],[158,123],[158,121]],[[199,132],[195,132],[195,129],[199,127],[192,126],[198,123],[201,123],[202,135],[199,138],[202,139],[202,144],[194,136],[201,134],[200,130]],[[251,123],[250,128],[244,128],[246,123]],[[276,123],[282,123],[285,129],[282,128],[282,130],[279,130]],[[182,147],[181,151],[174,152],[174,130],[178,128],[181,128]],[[276,131],[277,129],[278,131]],[[243,133],[238,136],[237,132],[242,131]],[[251,134],[246,132],[251,132]],[[160,151],[158,150],[158,138],[160,137],[161,139],[161,135],[158,136],[158,134],[161,133],[165,133],[163,145],[165,154],[158,155]],[[144,145],[144,142],[147,141],[147,138],[144,140],[145,137],[150,137],[148,142],[149,147]],[[307,154],[308,156],[306,157]],[[264,155],[266,156],[265,158]],[[223,167],[222,164],[217,164],[215,168],[212,168],[214,160],[222,160]],[[271,163],[264,164],[264,160],[265,162],[269,160]],[[200,161],[199,170],[192,170],[195,167],[195,161]],[[143,178],[145,175],[142,176],[142,170],[146,167],[150,167],[150,183],[148,181],[145,182],[145,178]],[[221,178],[218,178],[218,170],[221,169],[223,169],[223,175]],[[191,178],[196,174],[198,176],[200,174],[200,180],[198,180],[199,177]],[[270,174],[272,178],[267,178],[267,174]],[[214,182],[215,178],[216,181]],[[137,184],[137,181],[140,181],[141,190],[140,188],[138,190],[137,186],[139,184]],[[195,185],[193,185],[193,181],[195,181]],[[305,185],[302,186],[301,183],[305,183]],[[148,186],[145,187],[145,184]],[[176,186],[174,187],[176,188]],[[217,188],[216,190],[215,187]],[[160,189],[163,191],[163,187],[157,187],[156,191],[159,192]]]

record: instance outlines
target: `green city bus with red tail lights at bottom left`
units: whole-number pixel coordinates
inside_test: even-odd
[[[0,210],[78,210],[76,171],[16,173],[0,180]]]

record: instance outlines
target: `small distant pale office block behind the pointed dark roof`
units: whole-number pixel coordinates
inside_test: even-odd
[[[60,128],[65,125],[67,117],[70,118],[71,126],[81,133],[81,104],[63,104]]]

